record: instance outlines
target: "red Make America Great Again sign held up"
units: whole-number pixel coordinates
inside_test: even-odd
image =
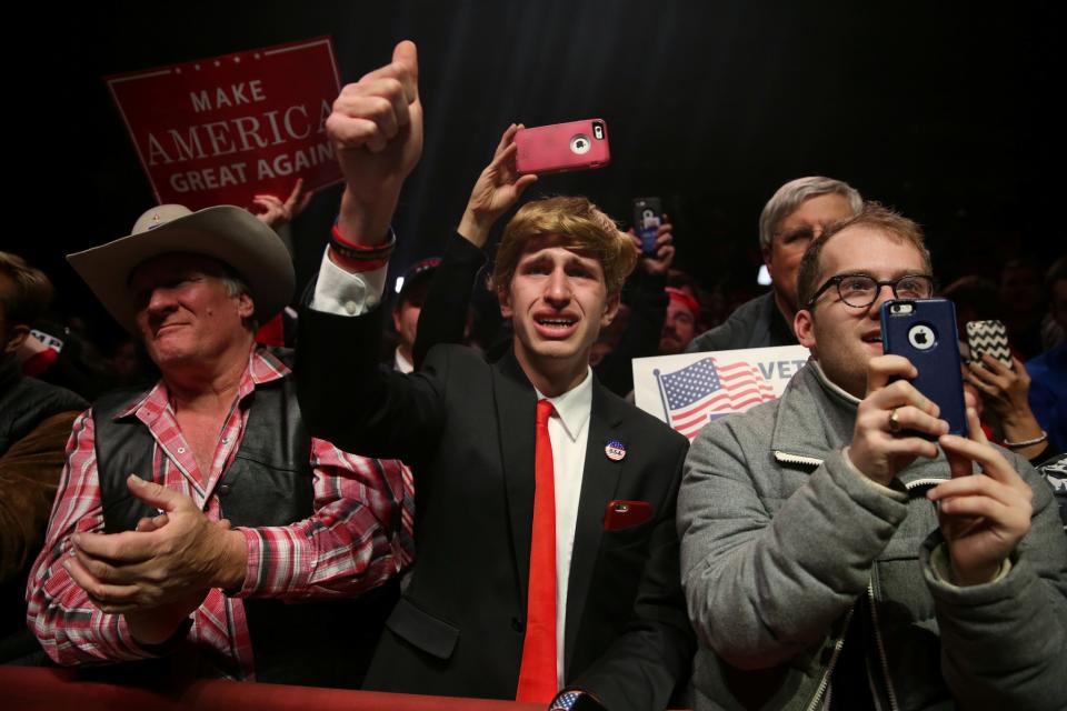
[[[106,78],[160,203],[282,200],[341,180],[326,119],[340,93],[329,37]]]

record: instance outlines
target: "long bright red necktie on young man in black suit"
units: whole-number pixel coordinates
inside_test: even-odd
[[[548,703],[556,697],[556,484],[548,419],[555,409],[537,402],[534,454],[534,533],[530,541],[530,587],[527,590],[526,639],[516,701]]]

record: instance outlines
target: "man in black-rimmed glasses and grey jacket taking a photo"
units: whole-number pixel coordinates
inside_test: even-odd
[[[973,407],[970,437],[948,435],[914,367],[882,354],[881,304],[930,297],[930,271],[918,226],[880,206],[828,228],[798,276],[808,365],[692,443],[696,709],[1067,708],[1051,491]]]

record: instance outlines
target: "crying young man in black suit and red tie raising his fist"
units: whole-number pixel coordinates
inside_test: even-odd
[[[366,687],[664,709],[696,648],[675,529],[687,442],[588,364],[634,244],[584,198],[528,203],[492,276],[511,352],[489,364],[441,346],[419,372],[379,369],[389,222],[421,150],[418,96],[415,44],[401,42],[335,102],[327,129],[346,189],[300,317],[308,429],[395,451],[416,479],[418,564]]]

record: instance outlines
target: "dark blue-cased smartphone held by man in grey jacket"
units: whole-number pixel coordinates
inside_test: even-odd
[[[941,409],[940,418],[948,422],[949,432],[967,437],[953,302],[948,299],[886,301],[881,304],[881,347],[886,353],[911,361],[919,371],[911,384]]]

